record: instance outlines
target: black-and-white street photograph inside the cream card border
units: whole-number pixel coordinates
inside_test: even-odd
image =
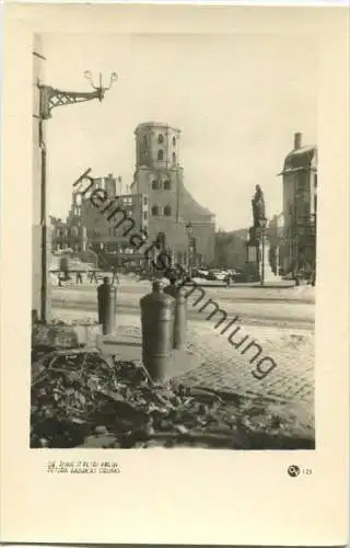
[[[317,53],[34,36],[32,448],[315,448]]]

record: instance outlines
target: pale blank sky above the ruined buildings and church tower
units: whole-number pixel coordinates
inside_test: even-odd
[[[50,214],[66,217],[88,168],[130,184],[139,123],[182,130],[185,184],[225,230],[252,224],[260,184],[267,215],[282,208],[276,176],[294,132],[316,144],[317,47],[307,35],[44,35],[45,83],[89,91],[84,70],[118,81],[96,100],[55,109],[47,122]]]

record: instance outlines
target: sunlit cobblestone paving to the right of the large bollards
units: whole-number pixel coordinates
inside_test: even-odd
[[[206,329],[207,328],[207,329]],[[190,383],[252,392],[283,400],[312,402],[314,398],[314,335],[310,332],[288,332],[257,327],[242,328],[237,341],[247,334],[247,343],[255,341],[262,347],[261,356],[273,358],[275,367],[265,378],[253,375],[256,366],[249,363],[250,355],[242,355],[225,335],[220,335],[208,326],[191,329],[189,346],[202,359],[200,370],[186,376]]]

